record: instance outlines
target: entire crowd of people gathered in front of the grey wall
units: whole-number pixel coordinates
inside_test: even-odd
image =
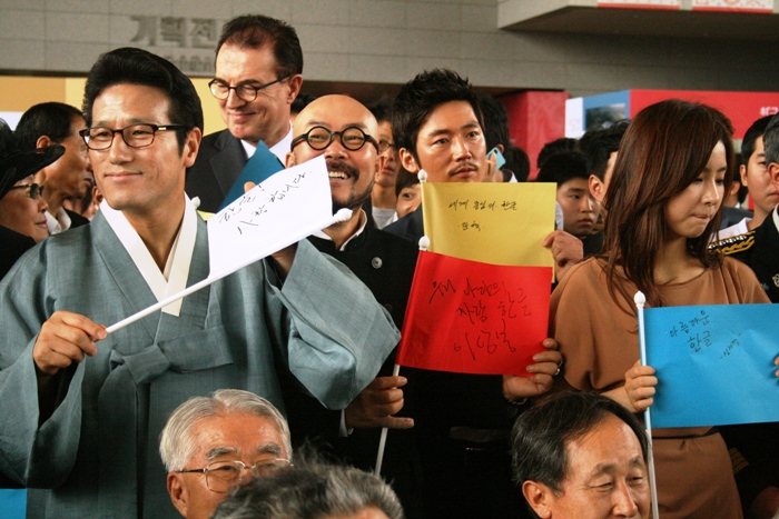
[[[315,98],[280,20],[227,22],[209,88],[116,49],[80,109],[0,123],[0,487],[30,517],[649,518],[651,458],[663,519],[779,517],[777,423],[648,438],[663,373],[632,306],[779,302],[779,116],[738,156],[720,111],[662,101],[549,142],[530,180],[505,108],[456,71]],[[201,102],[226,129],[204,136]],[[109,333],[208,276],[204,218],[255,153],[323,156],[352,216]],[[393,372],[421,172],[556,184],[530,376]]]

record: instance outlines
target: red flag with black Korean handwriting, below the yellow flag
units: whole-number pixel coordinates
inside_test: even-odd
[[[544,351],[552,269],[421,252],[397,363],[437,371],[520,375]]]

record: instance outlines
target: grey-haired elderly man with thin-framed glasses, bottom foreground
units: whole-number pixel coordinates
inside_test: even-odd
[[[264,398],[223,389],[174,411],[159,453],[176,509],[187,519],[205,519],[239,485],[289,467],[289,427]]]

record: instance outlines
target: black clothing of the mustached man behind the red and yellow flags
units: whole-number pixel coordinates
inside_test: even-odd
[[[417,243],[424,234],[422,206],[383,230]],[[413,403],[427,517],[525,517],[507,456],[509,431],[521,409],[503,397],[503,378],[411,368],[403,373],[408,385],[414,380],[405,401]],[[453,436],[463,428],[479,439]]]

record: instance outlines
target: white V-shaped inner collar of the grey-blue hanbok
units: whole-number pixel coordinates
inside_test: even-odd
[[[106,221],[116,232],[127,253],[130,254],[132,262],[140,271],[151,292],[154,292],[157,301],[161,301],[187,288],[189,266],[191,265],[195,239],[197,237],[197,213],[189,198],[186,194],[184,197],[186,200],[184,219],[176,234],[176,240],[174,240],[174,244],[170,248],[165,271],[159,270],[151,257],[151,252],[146,248],[144,240],[140,239],[140,236],[138,236],[130,222],[127,221],[125,214],[121,211],[111,209],[106,200],[100,203],[100,211],[106,217]],[[181,312],[181,302],[183,299],[171,302],[162,308],[162,311],[178,317]]]

